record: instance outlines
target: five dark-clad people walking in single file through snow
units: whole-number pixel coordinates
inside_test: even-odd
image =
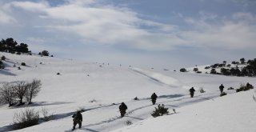
[[[222,92],[224,90],[224,86],[223,85],[219,86],[219,90],[221,91],[221,94],[222,94]],[[194,87],[191,87],[190,88],[190,97],[191,98],[194,97],[194,92],[195,92]],[[155,104],[157,98],[158,98],[157,94],[153,93],[151,95],[151,102],[152,102],[153,105]],[[121,105],[119,106],[119,111],[120,111],[121,117],[125,116],[127,109],[128,109],[128,107],[126,106],[126,104],[124,102],[122,102]],[[73,118],[73,125],[74,125],[73,130],[75,129],[75,126],[77,124],[78,124],[79,128],[81,128],[81,126],[82,126],[82,114],[81,114],[81,112],[77,111],[76,114],[73,114],[72,118]]]

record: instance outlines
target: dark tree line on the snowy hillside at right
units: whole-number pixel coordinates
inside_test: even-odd
[[[232,67],[232,65],[235,67]],[[246,62],[245,58],[241,58],[240,62],[233,61],[231,64],[226,64],[226,61],[222,63],[216,63],[211,66],[206,66],[205,69],[211,69],[210,74],[223,74],[227,76],[238,76],[238,77],[255,77],[256,76],[256,58],[248,60]],[[239,67],[240,66],[240,67]],[[220,73],[216,71],[216,68],[220,68]],[[180,69],[180,72],[186,72],[185,68]],[[202,73],[197,67],[194,68],[194,72]]]

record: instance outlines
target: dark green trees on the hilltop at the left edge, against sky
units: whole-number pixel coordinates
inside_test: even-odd
[[[26,43],[18,44],[18,42],[16,42],[14,38],[2,39],[0,41],[0,51],[11,54],[32,54]],[[39,52],[39,55],[49,56],[49,52],[47,50],[42,50],[42,52]]]

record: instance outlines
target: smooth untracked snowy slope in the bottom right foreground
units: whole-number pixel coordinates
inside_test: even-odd
[[[113,132],[255,132],[256,102],[252,98],[253,92],[250,90],[184,106],[177,114],[148,118]]]

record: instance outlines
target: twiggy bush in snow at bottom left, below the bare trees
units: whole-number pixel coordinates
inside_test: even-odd
[[[15,113],[13,120],[14,130],[38,125],[39,112],[34,109],[25,109],[19,113]]]

